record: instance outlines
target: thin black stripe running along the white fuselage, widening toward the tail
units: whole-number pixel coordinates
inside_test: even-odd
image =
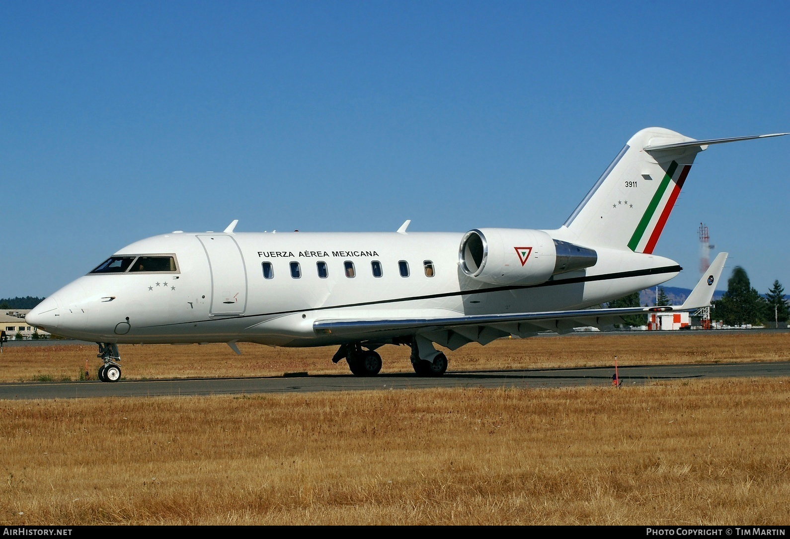
[[[588,276],[571,277],[570,279],[546,281],[538,285],[508,285],[508,286],[497,286],[494,288],[478,288],[476,290],[459,290],[457,292],[446,292],[443,294],[430,294],[427,296],[411,296],[405,298],[395,298],[394,300],[376,300],[376,301],[365,301],[362,303],[346,303],[344,305],[330,305],[327,307],[310,307],[308,309],[293,309],[292,311],[267,312],[258,315],[228,316],[223,319],[193,320],[191,322],[175,322],[174,324],[162,324],[160,326],[141,326],[141,327],[145,328],[145,327],[182,326],[183,324],[217,322],[219,320],[238,320],[238,319],[251,319],[259,316],[292,315],[293,313],[296,312],[328,311],[329,309],[344,309],[347,307],[365,307],[367,305],[381,305],[382,303],[402,303],[404,301],[414,301],[414,300],[434,300],[435,298],[453,297],[453,296],[472,296],[473,294],[506,292],[508,290],[525,290],[528,288],[543,288],[544,286],[574,285],[576,283],[589,283],[593,281],[609,281],[611,279],[626,279],[628,277],[642,277],[644,275],[656,275],[659,273],[673,273],[673,272],[679,272],[681,270],[683,270],[683,268],[680,266],[664,266],[660,268],[649,268],[647,270],[632,270],[632,271],[622,271],[619,273],[605,273],[604,275],[591,275],[589,277]]]

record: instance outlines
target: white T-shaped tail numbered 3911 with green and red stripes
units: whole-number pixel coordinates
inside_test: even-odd
[[[662,127],[627,142],[562,228],[571,242],[653,253],[694,157],[708,145],[788,133],[695,141]]]

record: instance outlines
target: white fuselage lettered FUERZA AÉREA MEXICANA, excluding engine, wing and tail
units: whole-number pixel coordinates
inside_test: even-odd
[[[563,239],[562,229],[545,232]],[[366,337],[316,334],[316,320],[578,309],[680,270],[668,258],[598,246],[596,264],[584,270],[534,285],[491,285],[461,271],[463,236],[173,232],[117,251],[126,270],[80,277],[40,303],[28,322],[97,342],[318,346]],[[168,258],[169,267],[143,268],[145,260]]]

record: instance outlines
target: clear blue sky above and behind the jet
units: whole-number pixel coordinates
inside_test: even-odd
[[[0,297],[172,230],[555,228],[631,134],[790,131],[788,2],[2,2]],[[700,154],[701,221],[790,289],[790,137]],[[725,270],[728,273],[728,270]]]

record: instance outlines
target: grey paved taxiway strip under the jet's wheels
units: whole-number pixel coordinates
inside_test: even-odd
[[[762,378],[790,376],[790,362],[653,365],[621,367],[623,385],[657,380],[709,378]],[[116,383],[49,382],[0,384],[0,399],[53,399],[93,397],[159,397],[295,393],[311,391],[400,390],[427,387],[563,387],[611,386],[614,368],[569,368],[527,371],[449,372],[440,378],[414,374],[278,376],[234,379],[129,380]]]

